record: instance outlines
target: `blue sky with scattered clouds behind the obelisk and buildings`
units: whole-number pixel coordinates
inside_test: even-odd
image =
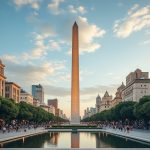
[[[0,0],[0,59],[7,81],[44,87],[70,117],[72,25],[79,26],[80,112],[115,96],[137,68],[150,72],[149,0]]]

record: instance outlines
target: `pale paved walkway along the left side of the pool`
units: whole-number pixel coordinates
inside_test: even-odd
[[[27,129],[26,132],[24,130],[20,131],[12,131],[12,132],[6,132],[6,133],[0,133],[0,143],[9,141],[9,140],[15,140],[23,137],[29,137],[36,134],[42,134],[47,132],[44,128],[37,128],[37,129]]]

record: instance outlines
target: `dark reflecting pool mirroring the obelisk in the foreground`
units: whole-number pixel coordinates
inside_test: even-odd
[[[48,132],[1,145],[3,148],[150,148],[146,143],[102,132]]]

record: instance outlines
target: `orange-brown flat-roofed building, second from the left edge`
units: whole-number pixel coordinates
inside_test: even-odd
[[[14,82],[5,82],[5,97],[20,102],[20,86]]]

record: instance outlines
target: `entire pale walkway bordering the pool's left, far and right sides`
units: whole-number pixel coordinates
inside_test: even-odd
[[[0,133],[0,143],[5,143],[7,141],[13,141],[16,139],[23,139],[23,137],[29,137],[37,134],[42,134],[46,132],[71,132],[69,129],[48,129],[45,130],[44,128],[37,128],[37,129],[30,129],[24,132],[23,130],[18,131],[18,132],[10,132],[10,133]],[[132,130],[129,133],[120,131],[118,129],[111,129],[111,128],[106,128],[106,129],[78,129],[78,132],[106,132],[108,134],[112,134],[115,136],[119,137],[124,137],[124,138],[130,138],[133,140],[139,140],[143,142],[150,143],[150,130]]]

